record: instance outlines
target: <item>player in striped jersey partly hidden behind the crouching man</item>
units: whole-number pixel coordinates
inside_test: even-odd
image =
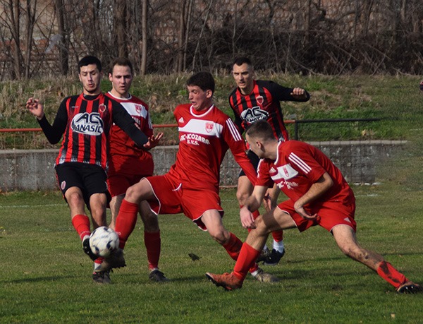
[[[250,59],[240,57],[233,62],[233,78],[237,88],[229,96],[229,104],[235,114],[235,125],[241,133],[250,124],[258,120],[266,120],[271,125],[274,136],[279,140],[288,140],[288,131],[283,123],[281,101],[306,102],[309,93],[302,88],[286,88],[272,81],[255,80],[255,71]],[[259,158],[252,150],[247,152],[252,165],[257,169]],[[252,193],[252,183],[241,170],[238,176],[238,190],[236,193],[238,203],[242,208],[245,200]],[[277,186],[269,189],[264,199],[267,211],[276,206],[280,190]],[[254,213],[259,215],[258,210]],[[283,231],[272,232],[273,248],[271,251],[264,246],[262,254],[257,258],[265,265],[277,265],[285,254],[283,246]]]

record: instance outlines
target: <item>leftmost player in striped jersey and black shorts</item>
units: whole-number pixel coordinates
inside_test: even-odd
[[[66,97],[60,104],[53,125],[44,115],[38,99],[30,97],[27,109],[37,117],[39,126],[50,143],[61,142],[55,171],[63,197],[71,210],[73,227],[82,240],[82,247],[92,260],[92,279],[109,283],[109,272],[99,270],[103,258],[90,249],[90,210],[92,227],[106,226],[106,204],[109,191],[106,184],[109,133],[113,123],[118,125],[140,147],[149,149],[149,139],[136,126],[130,114],[118,102],[100,90],[102,64],[95,56],[85,56],[78,62],[82,93]]]

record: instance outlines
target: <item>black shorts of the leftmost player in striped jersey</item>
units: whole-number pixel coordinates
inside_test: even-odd
[[[56,165],[54,169],[63,198],[68,188],[78,187],[82,191],[82,196],[88,208],[90,207],[90,197],[94,193],[105,193],[107,200],[110,200],[106,182],[107,175],[102,167],[95,164],[65,162]]]

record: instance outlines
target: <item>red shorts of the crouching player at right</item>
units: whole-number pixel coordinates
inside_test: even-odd
[[[328,232],[331,232],[333,227],[339,224],[352,227],[354,232],[357,229],[357,224],[354,220],[355,203],[325,202],[314,205],[311,210],[307,211],[310,215],[318,215],[315,220],[306,220],[298,212],[295,212],[293,200],[286,200],[280,203],[278,208],[283,212],[287,212],[293,218],[300,232],[304,232],[309,227],[316,225],[323,227]]]

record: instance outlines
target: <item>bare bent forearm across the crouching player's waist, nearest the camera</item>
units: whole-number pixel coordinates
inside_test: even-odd
[[[314,182],[314,184],[312,184],[309,190],[297,201],[295,201],[295,211],[298,212],[298,214],[300,214],[300,216],[303,218],[314,220],[317,217],[317,214],[310,215],[304,209],[304,206],[317,200],[326,191],[328,191],[331,186],[333,186],[333,180],[327,172],[324,172],[324,174],[316,182]]]

